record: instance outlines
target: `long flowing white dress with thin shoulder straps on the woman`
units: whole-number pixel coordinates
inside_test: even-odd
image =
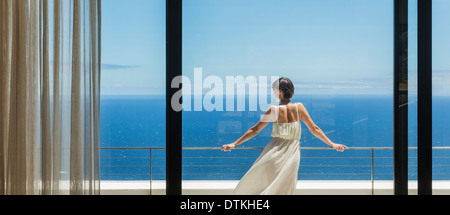
[[[272,140],[233,191],[236,195],[292,195],[300,165],[301,124],[273,123]],[[275,114],[278,116],[277,106]]]

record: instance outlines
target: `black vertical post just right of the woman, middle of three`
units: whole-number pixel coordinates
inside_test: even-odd
[[[408,195],[408,0],[394,1],[394,194]]]

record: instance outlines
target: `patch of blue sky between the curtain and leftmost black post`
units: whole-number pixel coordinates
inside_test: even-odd
[[[165,1],[102,2],[102,94],[165,90]]]

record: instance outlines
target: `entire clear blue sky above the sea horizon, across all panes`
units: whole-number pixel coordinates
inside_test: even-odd
[[[433,39],[441,44],[433,77],[443,94],[450,90],[449,2],[433,1]],[[415,30],[411,25],[411,83]],[[165,0],[104,1],[102,47],[103,94],[164,94]],[[183,75],[193,80],[194,68],[224,81],[285,76],[300,94],[391,95],[393,1],[185,0]]]

